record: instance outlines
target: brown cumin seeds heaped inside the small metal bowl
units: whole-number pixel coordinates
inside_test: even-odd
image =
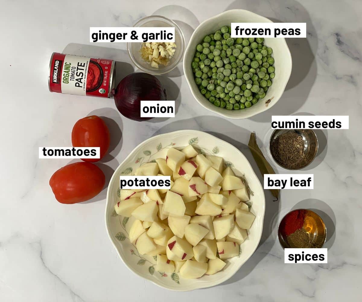
[[[296,131],[287,131],[271,143],[271,153],[275,161],[284,165],[296,165],[306,158],[305,142]]]

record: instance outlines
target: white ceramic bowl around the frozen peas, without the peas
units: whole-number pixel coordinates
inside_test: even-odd
[[[220,29],[224,25],[230,26],[231,22],[272,21],[253,12],[245,11],[244,9],[232,9],[203,21],[195,29],[190,38],[189,45],[185,50],[184,74],[194,98],[197,100],[197,102],[199,102],[199,104],[201,104],[201,106],[230,119],[246,119],[260,112],[268,110],[278,102],[290,78],[292,70],[292,58],[284,38],[265,38],[265,45],[273,49],[272,57],[275,61],[275,78],[273,79],[273,85],[271,85],[266,92],[265,98],[259,100],[259,102],[256,104],[253,104],[253,106],[250,108],[241,110],[226,110],[225,108],[214,106],[214,104],[211,104],[209,100],[207,100],[205,96],[203,96],[199,91],[194,80],[194,73],[191,68],[191,62],[194,58],[196,45],[200,44],[200,41],[202,41],[203,37],[205,37],[207,34],[215,33],[216,30]],[[269,99],[271,99],[270,103],[266,103],[266,101]]]

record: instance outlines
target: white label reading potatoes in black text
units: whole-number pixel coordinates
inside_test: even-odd
[[[170,176],[126,176],[119,177],[119,189],[171,189]]]

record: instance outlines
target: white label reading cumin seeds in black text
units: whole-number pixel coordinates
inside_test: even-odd
[[[273,129],[349,129],[349,115],[273,115]]]

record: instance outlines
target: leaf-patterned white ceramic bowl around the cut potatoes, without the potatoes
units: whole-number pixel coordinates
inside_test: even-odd
[[[119,189],[119,175],[132,175],[142,163],[152,161],[159,157],[166,157],[169,148],[185,147],[189,144],[200,147],[203,153],[214,154],[224,158],[226,165],[232,167],[236,175],[244,175],[253,195],[250,203],[251,212],[256,215],[254,223],[247,239],[241,244],[241,253],[237,257],[226,260],[225,268],[211,276],[203,276],[199,279],[185,279],[179,273],[162,273],[155,270],[156,261],[153,257],[139,255],[137,249],[128,239],[133,218],[118,216],[114,211],[114,205],[119,201],[117,190]],[[257,248],[265,213],[264,190],[255,175],[251,165],[234,146],[220,140],[208,133],[195,130],[180,130],[165,133],[149,138],[139,144],[121,165],[114,171],[109,182],[107,203],[105,210],[105,223],[109,239],[117,250],[124,264],[135,274],[143,277],[165,289],[176,291],[189,291],[204,287],[210,287],[228,280],[247,261]]]

